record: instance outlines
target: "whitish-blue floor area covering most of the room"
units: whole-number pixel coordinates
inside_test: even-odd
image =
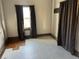
[[[54,39],[28,39],[19,49],[6,49],[2,59],[78,59],[60,46]]]

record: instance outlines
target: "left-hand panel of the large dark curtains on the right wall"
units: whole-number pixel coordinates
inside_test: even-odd
[[[60,21],[58,33],[58,45],[65,46],[67,28],[67,2],[60,3]]]

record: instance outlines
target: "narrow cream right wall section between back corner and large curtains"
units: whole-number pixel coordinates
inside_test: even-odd
[[[52,0],[52,26],[51,33],[56,38],[58,37],[58,24],[59,24],[59,13],[54,14],[54,9],[60,7],[60,2],[65,0]]]

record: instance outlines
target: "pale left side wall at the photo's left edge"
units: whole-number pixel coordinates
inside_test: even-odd
[[[3,6],[2,6],[2,1],[0,0],[0,54],[3,50],[4,42],[6,38],[7,38],[7,34],[6,34],[6,27],[4,21]]]

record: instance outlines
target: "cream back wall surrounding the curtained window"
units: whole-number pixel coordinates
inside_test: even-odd
[[[8,37],[18,36],[15,5],[35,5],[37,33],[50,33],[51,0],[3,0]]]

